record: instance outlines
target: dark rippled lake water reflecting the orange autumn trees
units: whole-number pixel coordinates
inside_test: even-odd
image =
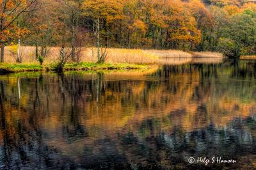
[[[0,169],[255,169],[255,78],[253,61],[1,75]]]

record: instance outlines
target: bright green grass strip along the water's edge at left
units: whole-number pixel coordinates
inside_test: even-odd
[[[96,64],[96,63],[67,63],[64,70],[146,70],[150,68],[147,65],[136,65],[127,63],[117,63],[117,64]],[[15,73],[15,72],[39,72],[39,71],[51,71],[55,70],[56,65],[39,65],[39,64],[12,64],[12,63],[0,63],[0,73]]]

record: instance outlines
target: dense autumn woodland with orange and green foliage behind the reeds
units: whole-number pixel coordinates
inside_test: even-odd
[[[256,53],[256,3],[246,0],[0,0],[4,47],[180,49]],[[19,58],[17,59],[19,61]]]

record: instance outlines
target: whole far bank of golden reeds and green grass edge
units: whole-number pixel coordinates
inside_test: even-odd
[[[43,65],[35,59],[35,47],[21,47],[20,59],[22,64],[17,64],[15,58],[17,54],[10,52],[11,47],[5,48],[5,63],[0,63],[0,73],[15,72],[39,72],[56,70],[60,47],[48,47],[47,54],[44,57]],[[65,70],[146,70],[152,66],[158,65],[181,65],[193,62],[196,58],[212,60],[214,58],[222,59],[223,55],[216,52],[184,52],[181,50],[143,50],[143,49],[106,49],[108,55],[105,64],[96,64],[97,49],[82,48],[77,56],[77,63],[68,59],[64,67]],[[212,62],[212,61],[211,61]]]

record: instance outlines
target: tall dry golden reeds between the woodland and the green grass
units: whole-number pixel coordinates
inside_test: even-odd
[[[13,55],[10,51],[12,51],[12,47],[5,48],[5,62],[15,63],[17,55]],[[193,55],[205,58],[223,57],[220,53],[193,52],[192,55],[180,50],[106,49],[106,51],[108,52],[106,63],[163,64],[167,62],[168,64],[177,64],[190,62]],[[20,47],[20,54],[22,63],[38,63],[35,59],[35,47]],[[59,54],[60,47],[48,47],[48,53],[44,59],[44,63],[49,64],[58,61]],[[97,48],[95,47],[82,48],[80,54],[80,61],[97,61]]]

